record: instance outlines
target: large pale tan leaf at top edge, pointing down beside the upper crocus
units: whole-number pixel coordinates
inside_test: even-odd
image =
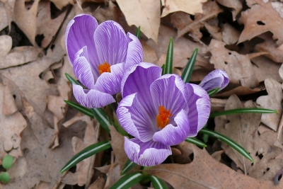
[[[124,13],[128,25],[140,26],[141,32],[157,43],[161,14],[160,1],[117,0],[117,4]]]

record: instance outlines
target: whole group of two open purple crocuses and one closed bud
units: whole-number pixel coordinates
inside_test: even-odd
[[[229,83],[218,69],[200,85],[185,84],[175,74],[162,76],[160,67],[142,62],[139,40],[114,21],[98,25],[92,16],[76,16],[65,42],[74,74],[87,88],[73,84],[81,105],[100,108],[115,103],[112,96],[122,92],[117,118],[134,137],[125,137],[125,152],[141,166],[161,164],[171,155],[171,146],[195,137],[209,118],[207,91]]]

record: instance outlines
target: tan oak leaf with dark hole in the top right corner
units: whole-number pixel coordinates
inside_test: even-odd
[[[271,1],[247,0],[250,8],[241,13],[239,23],[245,25],[238,43],[251,40],[262,33],[270,31],[277,45],[283,43],[283,18],[272,7]]]

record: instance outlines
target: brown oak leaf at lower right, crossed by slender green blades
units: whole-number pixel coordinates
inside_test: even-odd
[[[237,96],[231,96],[225,105],[225,110],[236,108],[254,108],[253,101],[247,101],[244,105]],[[223,115],[215,118],[215,131],[233,139],[246,149],[254,159],[250,162],[238,151],[226,143],[221,143],[225,153],[241,168],[243,173],[253,178],[262,178],[273,181],[275,174],[282,168],[283,160],[275,159],[282,154],[282,149],[273,144],[277,140],[275,132],[263,132],[258,134],[260,114]]]

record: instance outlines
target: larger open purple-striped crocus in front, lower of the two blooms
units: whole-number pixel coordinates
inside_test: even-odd
[[[161,68],[140,63],[122,79],[122,101],[117,108],[121,126],[134,138],[125,137],[125,152],[141,166],[161,164],[172,145],[195,137],[207,122],[210,100],[195,84],[180,76],[161,76]]]

